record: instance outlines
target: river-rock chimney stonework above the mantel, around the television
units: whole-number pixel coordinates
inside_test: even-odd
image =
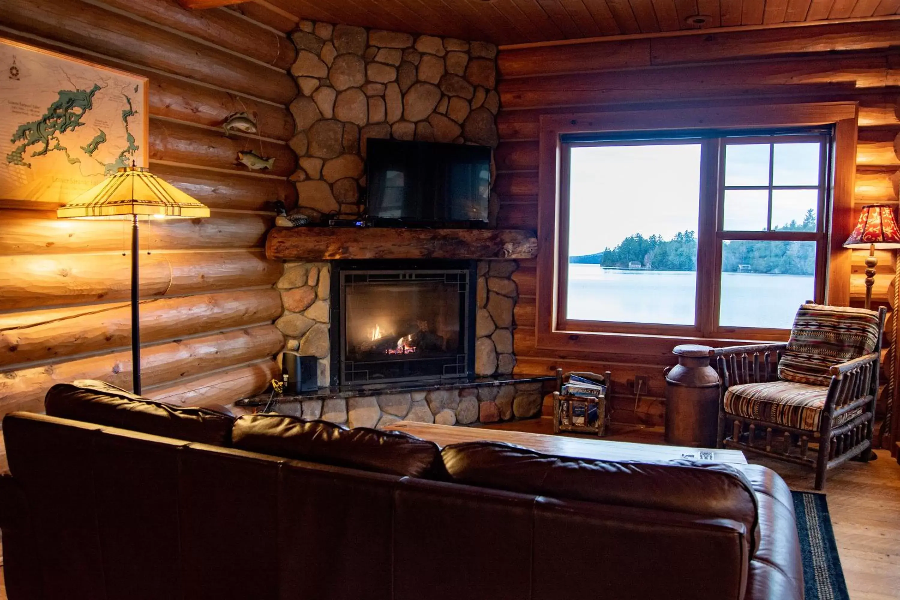
[[[302,21],[292,34],[295,213],[358,215],[370,138],[496,148],[497,47],[430,35]],[[497,200],[491,197],[491,214]]]

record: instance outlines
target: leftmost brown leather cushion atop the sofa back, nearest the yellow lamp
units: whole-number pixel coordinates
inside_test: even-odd
[[[234,422],[225,413],[175,407],[94,380],[58,383],[47,392],[44,410],[49,416],[217,446],[229,445]]]

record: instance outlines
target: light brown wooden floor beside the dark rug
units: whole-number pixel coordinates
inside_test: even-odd
[[[489,426],[554,432],[548,417]],[[604,439],[663,443],[662,433],[662,428],[614,425]],[[812,471],[750,453],[747,460],[777,471],[791,489],[813,490]],[[829,471],[825,492],[851,600],[900,600],[900,464],[887,451],[878,451],[878,461],[847,462]]]

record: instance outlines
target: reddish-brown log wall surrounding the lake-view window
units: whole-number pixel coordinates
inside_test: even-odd
[[[537,228],[538,128],[545,113],[717,104],[860,103],[855,204],[897,201],[900,28],[896,21],[815,25],[643,40],[501,48],[498,227]],[[859,214],[855,210],[855,215]],[[856,216],[854,215],[854,219]],[[539,251],[549,251],[541,248]],[[861,305],[866,253],[852,255],[851,303]],[[879,253],[875,299],[887,302],[891,252]],[[635,338],[628,354],[536,347],[536,261],[520,261],[516,372],[613,373],[613,420],[662,425],[672,340]],[[585,336],[581,336],[582,339]],[[581,341],[575,343],[575,347]],[[635,395],[635,375],[650,389]]]

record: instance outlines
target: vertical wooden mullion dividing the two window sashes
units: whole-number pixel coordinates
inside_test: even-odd
[[[697,244],[697,312],[696,323],[701,335],[708,336],[716,324],[717,282],[716,225],[721,173],[722,143],[706,139],[700,151],[700,221]]]

